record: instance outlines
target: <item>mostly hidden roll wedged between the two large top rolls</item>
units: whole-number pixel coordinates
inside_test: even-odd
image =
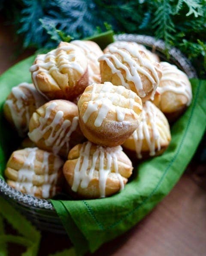
[[[85,55],[88,60],[89,84],[99,84],[101,82],[101,77],[100,64],[98,62],[98,58],[103,55],[103,51],[100,49],[98,44],[92,41],[74,40],[70,43],[79,46],[85,52]]]

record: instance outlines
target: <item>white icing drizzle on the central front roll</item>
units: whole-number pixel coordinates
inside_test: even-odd
[[[91,114],[95,111],[98,111],[97,117],[94,121],[94,125],[96,127],[100,127],[102,125],[103,120],[106,118],[109,109],[114,107],[113,103],[118,102],[121,94],[125,90],[122,86],[117,86],[116,92],[113,91],[113,85],[110,82],[104,82],[99,94],[96,93],[97,84],[92,84],[93,89],[91,92],[91,100],[88,102],[87,109],[85,110],[84,115],[82,116],[82,120],[86,123],[91,116]],[[122,122],[124,120],[126,113],[136,113],[133,111],[132,107],[135,103],[134,94],[130,92],[130,107],[128,109],[126,107],[115,106],[115,110],[117,113],[118,122]],[[98,108],[100,106],[100,109]]]

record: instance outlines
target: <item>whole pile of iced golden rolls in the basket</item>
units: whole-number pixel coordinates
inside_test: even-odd
[[[135,42],[103,51],[92,41],[61,42],[30,72],[33,84],[13,87],[4,104],[22,137],[5,177],[39,198],[118,193],[133,165],[164,153],[169,124],[192,99],[187,75]]]

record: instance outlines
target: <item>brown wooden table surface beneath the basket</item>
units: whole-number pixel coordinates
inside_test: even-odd
[[[27,50],[14,57],[10,28],[0,20],[0,74],[31,55]],[[12,228],[7,230],[13,233]],[[69,248],[67,236],[42,233],[39,256]],[[24,248],[9,246],[12,256]],[[91,255],[91,254],[88,254]],[[94,256],[204,256],[206,255],[206,165],[189,165],[170,194],[130,231],[104,244]]]

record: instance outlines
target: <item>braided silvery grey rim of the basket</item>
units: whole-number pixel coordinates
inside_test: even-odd
[[[177,48],[171,47],[168,50],[170,59],[165,58],[166,45],[162,40],[157,40],[154,37],[139,34],[118,34],[114,35],[114,39],[115,41],[134,41],[138,44],[143,44],[150,47],[153,53],[156,53],[160,57],[164,57],[164,59],[168,62],[173,62],[173,64],[176,64],[176,66],[178,66],[188,75],[188,78],[197,78],[197,73],[194,67],[191,65],[191,62]],[[20,204],[23,203],[24,206],[33,206],[36,209],[41,208],[55,211],[50,200],[39,199],[28,194],[23,194],[10,187],[2,178],[0,178],[0,193]]]

